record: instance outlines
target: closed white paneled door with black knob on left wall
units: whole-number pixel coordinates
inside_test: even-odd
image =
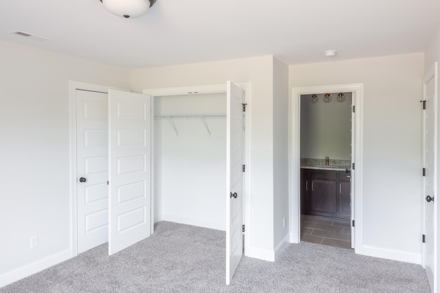
[[[78,253],[109,237],[107,93],[76,90]]]

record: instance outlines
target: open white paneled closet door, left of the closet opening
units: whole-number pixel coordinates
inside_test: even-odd
[[[109,90],[109,255],[151,235],[150,102]]]

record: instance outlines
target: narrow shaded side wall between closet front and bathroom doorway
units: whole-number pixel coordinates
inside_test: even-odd
[[[289,242],[289,67],[276,58],[273,84],[274,248],[278,254]]]

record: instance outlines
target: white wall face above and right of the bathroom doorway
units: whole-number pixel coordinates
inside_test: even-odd
[[[364,83],[364,254],[421,261],[423,54],[289,67],[289,86]]]

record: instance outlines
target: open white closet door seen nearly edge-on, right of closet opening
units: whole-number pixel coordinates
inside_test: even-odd
[[[243,90],[228,82],[226,102],[226,284],[243,255]]]

